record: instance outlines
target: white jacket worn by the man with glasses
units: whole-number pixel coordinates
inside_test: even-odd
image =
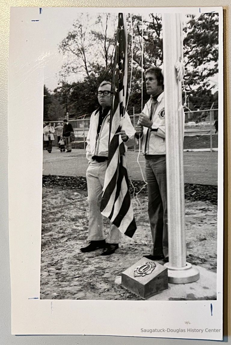
[[[90,119],[90,127],[87,136],[87,159],[89,162],[92,161],[93,156],[104,156],[108,157],[108,141],[109,141],[109,123],[110,120],[110,110],[107,116],[103,119],[102,126],[99,132],[99,137],[97,140],[97,128],[99,123],[99,109],[93,111]],[[131,124],[130,117],[126,112],[123,120],[121,129],[125,131],[125,134],[128,136],[128,141],[124,144],[128,143],[130,140],[134,138],[135,129]]]

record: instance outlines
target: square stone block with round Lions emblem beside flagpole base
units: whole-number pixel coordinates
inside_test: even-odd
[[[168,289],[168,269],[142,258],[121,274],[121,285],[144,299],[149,298]]]

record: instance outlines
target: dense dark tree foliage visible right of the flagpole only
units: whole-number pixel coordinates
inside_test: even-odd
[[[218,15],[203,13],[199,18],[188,15],[184,27],[184,83],[192,94],[211,90],[210,77],[218,73]]]

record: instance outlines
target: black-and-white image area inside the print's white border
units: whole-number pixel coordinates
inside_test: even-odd
[[[217,298],[218,13],[165,17],[79,13],[59,30],[41,299]]]

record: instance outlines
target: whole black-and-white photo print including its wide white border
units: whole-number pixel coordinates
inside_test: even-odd
[[[220,339],[221,8],[11,11],[13,332]]]

